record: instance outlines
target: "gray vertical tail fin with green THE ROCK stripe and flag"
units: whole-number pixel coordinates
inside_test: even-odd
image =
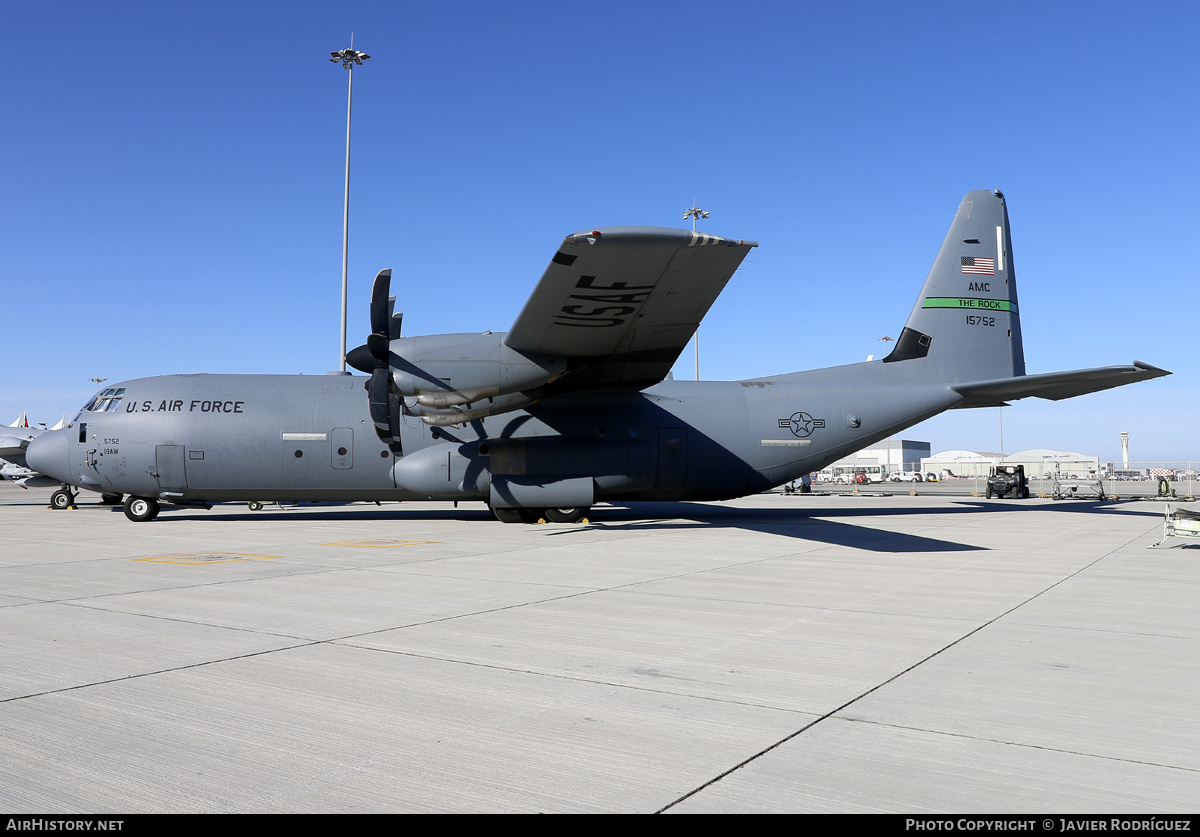
[[[1003,194],[967,192],[883,362],[901,365],[906,378],[949,384],[1025,374]]]

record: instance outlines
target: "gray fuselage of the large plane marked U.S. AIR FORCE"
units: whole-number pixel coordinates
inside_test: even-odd
[[[486,500],[530,502],[588,480],[595,500],[726,499],[764,490],[961,401],[946,385],[884,380],[878,361],[745,381],[664,381],[583,392],[464,426],[406,416],[402,452],[379,441],[364,378],[164,375],[118,385],[38,444],[42,472],[167,502]],[[52,452],[53,448],[53,452]]]

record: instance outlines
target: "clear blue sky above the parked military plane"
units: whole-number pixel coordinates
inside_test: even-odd
[[[1195,2],[8,2],[0,420],[89,378],[337,367],[380,267],[409,335],[505,330],[562,236],[755,239],[707,379],[878,355],[968,189],[1013,223],[1030,372],[1171,378],[1004,410],[1004,447],[1200,460]],[[691,353],[676,368],[692,377]],[[906,434],[997,450],[997,411]]]

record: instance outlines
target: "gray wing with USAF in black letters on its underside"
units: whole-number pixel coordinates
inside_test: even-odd
[[[650,386],[671,372],[757,246],[662,227],[575,233],[563,240],[504,342],[517,351],[568,359],[565,389]]]

